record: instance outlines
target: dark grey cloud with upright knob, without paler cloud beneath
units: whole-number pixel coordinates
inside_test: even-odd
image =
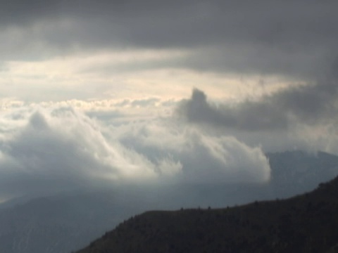
[[[208,103],[203,91],[194,89],[177,112],[190,122],[244,131],[287,129],[299,122],[320,124],[331,122],[337,115],[337,87],[337,82],[301,86],[258,101],[218,106]]]

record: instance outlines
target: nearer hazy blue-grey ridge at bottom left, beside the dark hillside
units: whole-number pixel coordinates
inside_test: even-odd
[[[0,252],[70,252],[144,210],[142,205],[128,205],[111,193],[40,197],[1,210]]]

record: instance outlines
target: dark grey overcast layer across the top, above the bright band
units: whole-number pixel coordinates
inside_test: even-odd
[[[311,78],[330,72],[338,56],[336,1],[17,0],[1,6],[1,27],[29,31],[25,45],[15,43],[26,54],[22,48],[34,48],[34,41],[59,52],[195,48],[178,67]],[[63,20],[68,25],[55,25]],[[54,25],[44,27],[48,22]],[[1,51],[8,48],[15,49],[8,43]]]

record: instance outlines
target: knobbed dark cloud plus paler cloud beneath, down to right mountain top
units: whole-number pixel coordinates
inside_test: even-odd
[[[176,108],[176,115],[209,133],[234,136],[265,152],[318,150],[337,154],[337,86],[313,84],[284,89],[261,99],[213,103],[199,89]]]

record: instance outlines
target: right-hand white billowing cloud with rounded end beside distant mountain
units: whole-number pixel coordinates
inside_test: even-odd
[[[164,124],[163,124],[164,123]],[[170,154],[182,163],[181,181],[199,183],[268,181],[270,167],[260,148],[231,136],[209,136],[173,122],[153,122],[121,134],[120,140],[150,160]]]

